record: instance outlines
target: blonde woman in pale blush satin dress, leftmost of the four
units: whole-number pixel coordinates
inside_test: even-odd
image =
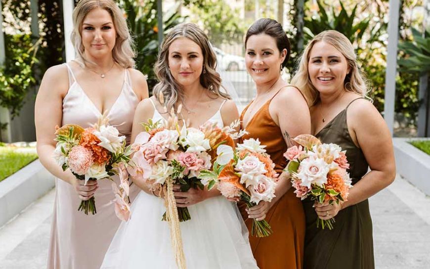
[[[43,166],[56,176],[56,195],[48,269],[98,269],[120,220],[115,215],[111,181],[77,180],[53,160],[55,126],[83,128],[107,114],[109,124],[130,141],[134,110],[148,96],[145,77],[132,69],[127,24],[113,0],[81,0],[73,14],[77,60],[49,68],[35,108],[37,149]],[[122,47],[122,49],[119,49]],[[106,113],[105,113],[106,112]],[[118,178],[114,180],[119,181]],[[130,196],[137,193],[131,186]],[[81,200],[95,197],[97,213],[78,211]]]

